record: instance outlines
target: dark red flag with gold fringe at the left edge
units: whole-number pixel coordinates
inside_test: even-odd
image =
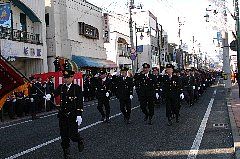
[[[3,58],[0,58],[0,110],[12,92],[27,90],[28,83],[24,81]]]

